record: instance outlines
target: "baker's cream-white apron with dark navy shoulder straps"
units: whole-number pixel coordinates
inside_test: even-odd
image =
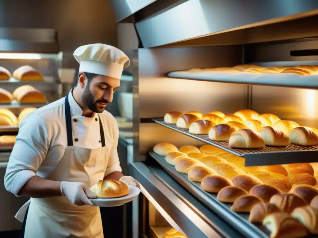
[[[100,121],[101,148],[73,146],[68,95],[65,97],[65,117],[68,146],[57,169],[45,179],[83,182],[91,187],[103,180],[107,168],[108,152],[103,126]],[[104,237],[99,207],[77,206],[65,196],[31,198],[20,208],[16,218],[24,223],[20,236],[24,238]]]

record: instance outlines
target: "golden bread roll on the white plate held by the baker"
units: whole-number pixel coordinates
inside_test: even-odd
[[[91,187],[98,198],[122,197],[129,194],[126,183],[115,180],[100,180]]]

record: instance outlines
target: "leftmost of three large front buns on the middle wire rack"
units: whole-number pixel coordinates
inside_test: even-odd
[[[242,129],[231,135],[229,146],[232,148],[256,149],[264,147],[265,141],[258,132],[250,129]]]

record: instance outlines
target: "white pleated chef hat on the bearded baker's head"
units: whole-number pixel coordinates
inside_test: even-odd
[[[79,62],[79,72],[120,79],[122,70],[129,66],[129,58],[124,52],[106,44],[83,45],[73,55]]]

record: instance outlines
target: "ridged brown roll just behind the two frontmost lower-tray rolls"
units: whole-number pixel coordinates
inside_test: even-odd
[[[275,204],[282,212],[291,213],[295,208],[308,205],[305,200],[295,194],[274,194],[269,203]]]

